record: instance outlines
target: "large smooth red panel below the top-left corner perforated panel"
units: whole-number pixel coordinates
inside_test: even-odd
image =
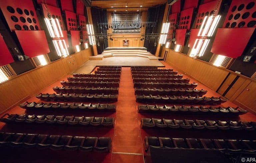
[[[15,31],[25,55],[35,57],[50,52],[44,31]]]

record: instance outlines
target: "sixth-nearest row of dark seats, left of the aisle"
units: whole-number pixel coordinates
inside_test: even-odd
[[[94,82],[94,81],[61,81],[63,86],[79,86],[79,87],[119,87],[119,82]]]

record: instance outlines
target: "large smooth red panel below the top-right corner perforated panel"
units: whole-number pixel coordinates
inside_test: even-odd
[[[237,58],[242,55],[255,28],[218,28],[211,52]]]

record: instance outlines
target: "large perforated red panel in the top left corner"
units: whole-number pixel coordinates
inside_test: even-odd
[[[41,30],[31,0],[1,0],[0,8],[11,31]]]

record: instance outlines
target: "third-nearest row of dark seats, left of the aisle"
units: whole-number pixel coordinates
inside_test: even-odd
[[[19,105],[23,109],[33,110],[81,110],[81,111],[104,111],[116,112],[115,104],[84,104],[84,103],[36,103],[24,102]]]

